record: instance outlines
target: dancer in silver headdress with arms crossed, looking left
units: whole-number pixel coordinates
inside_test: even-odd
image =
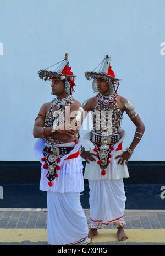
[[[56,65],[56,64],[55,64]],[[40,70],[40,79],[52,81],[57,97],[42,105],[34,124],[35,154],[41,161],[40,190],[47,191],[48,243],[91,244],[80,203],[84,190],[81,141],[78,127],[80,103],[72,96],[75,76],[68,55],[55,71]],[[70,126],[70,123],[74,125]]]

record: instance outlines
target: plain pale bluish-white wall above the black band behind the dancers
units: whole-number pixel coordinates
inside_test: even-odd
[[[84,72],[112,57],[118,92],[146,126],[131,160],[164,161],[164,9],[164,0],[0,0],[0,160],[36,160],[32,128],[53,97],[37,72],[68,52],[81,103],[94,95]],[[126,114],[123,128],[125,149],[136,129]]]

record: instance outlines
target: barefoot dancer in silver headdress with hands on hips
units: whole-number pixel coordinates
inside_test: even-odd
[[[94,127],[84,137],[90,151],[83,148],[81,156],[86,160],[84,178],[90,187],[89,237],[97,229],[111,223],[117,225],[119,240],[127,239],[124,232],[125,191],[123,178],[128,178],[127,162],[145,131],[133,103],[117,94],[119,79],[111,69],[111,58],[101,62],[96,72],[86,72],[87,79],[94,79],[93,89],[97,95],[83,104],[84,111],[92,112]],[[124,111],[136,126],[133,141],[126,151],[122,149],[126,132],[121,123]]]

